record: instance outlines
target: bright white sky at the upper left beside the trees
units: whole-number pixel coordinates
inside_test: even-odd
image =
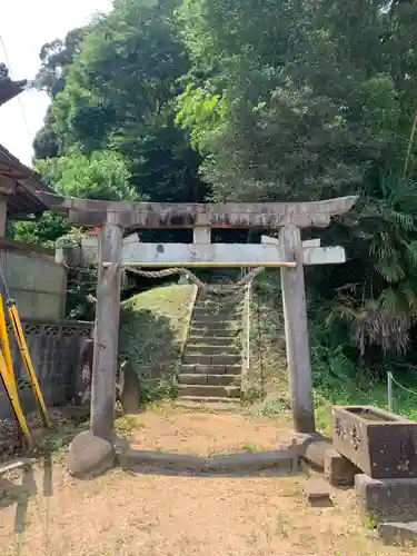
[[[0,0],[0,62],[7,63],[4,44],[9,75],[16,80],[34,78],[42,44],[63,39],[96,12],[111,9],[111,0]],[[0,107],[0,143],[26,165],[30,166],[32,141],[48,103],[46,93],[24,91]]]

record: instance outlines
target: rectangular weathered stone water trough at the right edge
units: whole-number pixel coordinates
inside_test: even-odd
[[[335,406],[332,418],[334,448],[364,473],[417,477],[417,423],[371,406]]]

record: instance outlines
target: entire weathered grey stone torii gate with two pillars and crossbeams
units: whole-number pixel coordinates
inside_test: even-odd
[[[317,202],[199,205],[93,201],[38,195],[50,208],[66,210],[75,226],[101,227],[98,249],[86,246],[78,250],[81,260],[87,258],[99,266],[91,393],[95,436],[115,440],[122,265],[280,268],[294,427],[299,433],[315,431],[302,267],[340,264],[346,257],[341,247],[321,248],[317,240],[302,244],[300,228],[327,227],[330,218],[347,212],[357,197]],[[123,230],[137,228],[192,228],[193,244],[143,244],[131,238],[123,241]],[[211,244],[211,228],[279,228],[279,239],[264,237],[260,245]]]

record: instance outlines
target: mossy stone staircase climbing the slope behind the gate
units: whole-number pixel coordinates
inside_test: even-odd
[[[182,400],[199,403],[239,401],[241,351],[240,297],[225,299],[198,294],[178,376]]]

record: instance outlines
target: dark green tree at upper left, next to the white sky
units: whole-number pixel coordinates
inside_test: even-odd
[[[189,69],[175,6],[119,0],[83,30],[38,140],[48,151],[52,133],[66,156],[116,150],[152,200],[201,200],[200,157],[175,123],[179,80]]]

